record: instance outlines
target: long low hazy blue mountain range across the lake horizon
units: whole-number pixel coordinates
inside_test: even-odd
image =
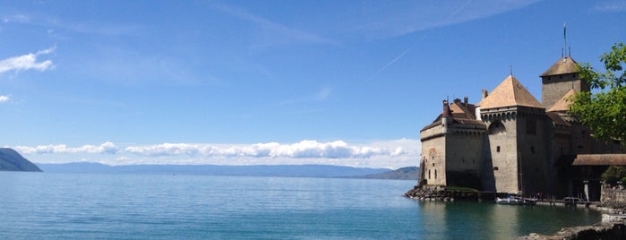
[[[124,165],[109,166],[92,162],[44,164],[38,166],[49,173],[102,173],[102,174],[180,174],[213,176],[300,176],[300,177],[351,177],[380,179],[413,179],[410,167],[398,170],[388,168],[343,167],[332,165]],[[405,169],[406,168],[406,169]],[[412,169],[412,168],[411,168]],[[415,176],[417,176],[415,174]],[[396,178],[394,178],[396,177]]]

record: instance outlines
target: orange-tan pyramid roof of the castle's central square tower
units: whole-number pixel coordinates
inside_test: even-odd
[[[533,97],[528,90],[515,77],[509,75],[487,96],[476,104],[481,109],[495,107],[541,107],[541,103]]]

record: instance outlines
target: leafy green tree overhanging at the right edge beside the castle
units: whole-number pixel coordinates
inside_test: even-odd
[[[626,47],[614,44],[600,61],[605,64],[605,73],[596,72],[590,64],[579,64],[580,78],[597,92],[574,95],[570,114],[591,129],[596,139],[626,144]]]

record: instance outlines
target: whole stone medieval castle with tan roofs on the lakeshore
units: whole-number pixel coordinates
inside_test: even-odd
[[[568,98],[589,90],[576,66],[571,57],[562,57],[541,74],[541,102],[512,75],[491,92],[483,90],[476,104],[467,97],[444,100],[442,114],[420,131],[421,184],[556,196],[584,188],[599,198],[599,181],[584,185],[571,163],[579,154],[624,148],[593,140],[568,115]]]

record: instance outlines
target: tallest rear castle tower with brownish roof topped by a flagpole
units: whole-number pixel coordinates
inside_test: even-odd
[[[570,90],[588,91],[587,81],[579,78],[577,63],[569,56],[564,56],[541,74],[541,101],[545,108],[551,108]]]

